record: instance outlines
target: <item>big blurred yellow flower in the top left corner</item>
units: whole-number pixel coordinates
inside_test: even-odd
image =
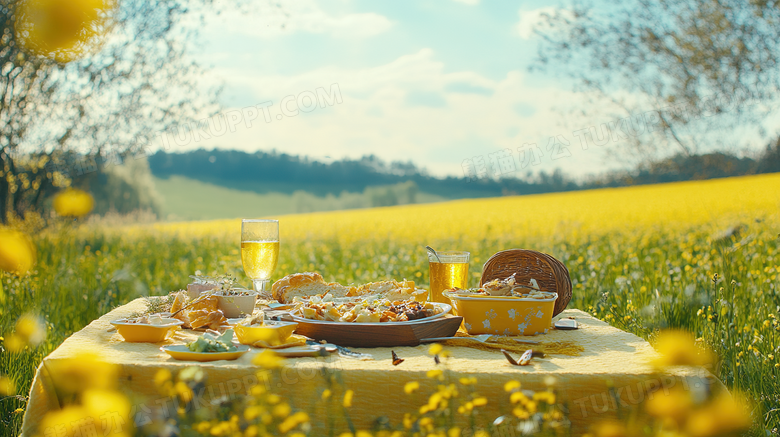
[[[36,55],[58,62],[83,56],[105,32],[110,0],[30,0],[17,12],[16,37]]]

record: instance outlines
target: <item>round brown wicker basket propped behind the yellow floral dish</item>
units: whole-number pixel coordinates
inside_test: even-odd
[[[507,278],[513,273],[515,280],[520,284],[528,284],[533,278],[536,279],[542,290],[558,293],[553,316],[557,316],[566,309],[571,300],[571,278],[569,270],[562,262],[546,253],[535,250],[503,250],[485,262],[479,285],[481,287],[493,279]]]

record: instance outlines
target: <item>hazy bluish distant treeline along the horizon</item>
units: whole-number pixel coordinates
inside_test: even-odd
[[[237,150],[200,149],[185,153],[160,151],[149,157],[149,166],[152,174],[160,178],[181,175],[258,193],[292,194],[304,190],[317,196],[339,195],[344,191],[362,193],[368,187],[412,181],[420,192],[455,199],[780,172],[780,140],[768,145],[761,156],[755,159],[722,152],[675,155],[645,163],[631,171],[595,175],[585,181],[575,181],[560,170],[528,174],[525,178],[436,178],[411,162],[388,164],[373,155],[359,160],[322,163],[284,153],[246,153]]]

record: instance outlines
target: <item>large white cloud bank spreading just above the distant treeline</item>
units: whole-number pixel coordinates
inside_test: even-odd
[[[375,154],[385,160],[411,160],[438,175],[463,175],[465,159],[483,156],[487,163],[490,153],[502,149],[519,159],[518,147],[536,143],[544,153],[542,164],[522,174],[561,167],[574,175],[603,168],[601,149],[582,150],[572,136],[582,122],[563,121],[555,110],[559,104],[577,105],[581,96],[528,83],[525,72],[510,71],[499,80],[472,71],[450,73],[433,50],[422,49],[362,69],[328,66],[298,75],[227,69],[216,73],[229,77],[247,95],[258,96],[256,103],[272,100],[272,120],[265,123],[260,116],[250,128],[239,125],[235,133],[187,148],[275,148],[336,159]],[[284,96],[327,90],[331,84],[338,84],[342,103],[277,118]],[[550,156],[548,140],[558,135],[570,141],[572,157]]]

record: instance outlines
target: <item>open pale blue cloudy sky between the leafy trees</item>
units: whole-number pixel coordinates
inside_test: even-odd
[[[570,82],[528,72],[538,42],[531,27],[552,10],[549,2],[223,6],[202,28],[195,55],[210,67],[207,80],[224,85],[228,110],[271,101],[271,121],[239,124],[178,150],[276,149],[325,161],[374,154],[456,176],[464,174],[464,162],[490,162],[501,151],[514,156],[518,175],[554,168],[583,175],[622,165],[600,149],[584,150],[572,135],[589,122],[562,115],[583,102]],[[333,84],[340,103],[280,114],[285,96],[297,101],[317,89],[333,92]],[[548,149],[551,137],[570,145]],[[523,168],[522,157],[531,156],[524,150],[541,155]]]

